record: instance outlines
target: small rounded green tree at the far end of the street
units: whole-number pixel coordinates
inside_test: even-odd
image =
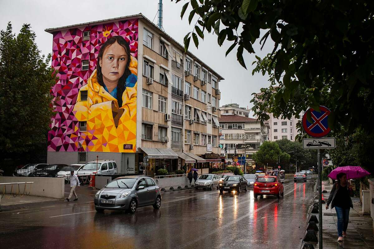
[[[260,149],[253,154],[253,160],[261,165],[269,167],[278,167],[278,157],[281,155],[281,149],[277,143],[272,141],[264,141]],[[281,156],[281,163],[286,165],[289,162],[288,154]]]

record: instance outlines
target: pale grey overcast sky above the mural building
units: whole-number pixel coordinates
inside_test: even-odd
[[[13,32],[18,32],[24,23],[31,24],[31,28],[37,36],[36,43],[39,49],[42,50],[43,54],[48,54],[52,52],[52,34],[45,32],[46,28],[138,13],[142,13],[152,21],[157,13],[158,2],[158,0],[0,0],[0,29],[5,29],[8,21],[12,22]],[[181,1],[176,4],[175,1],[163,1],[163,28],[166,33],[181,44],[183,44],[183,38],[187,32],[193,29],[193,26],[188,24],[191,6],[187,9],[183,20],[180,18],[184,2]],[[157,18],[154,19],[154,22],[157,22]],[[273,43],[269,40],[262,51],[258,42],[254,45],[256,55],[264,57],[269,51],[272,51]],[[266,75],[262,76],[262,74],[252,76],[254,67],[251,64],[255,60],[254,54],[246,53],[244,55],[248,70],[242,68],[237,62],[236,49],[225,57],[226,50],[231,44],[232,42],[225,41],[223,46],[220,47],[217,44],[216,35],[205,34],[205,39],[200,40],[199,49],[194,47],[191,39],[189,50],[225,78],[220,83],[220,105],[238,103],[241,107],[251,107],[249,103],[252,99],[251,94],[258,92],[261,87],[267,87],[269,85],[268,77]]]

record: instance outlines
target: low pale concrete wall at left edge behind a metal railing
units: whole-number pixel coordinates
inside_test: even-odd
[[[19,191],[23,194],[25,185],[25,193],[30,192],[30,195],[44,196],[52,198],[64,198],[65,183],[64,178],[49,178],[49,177],[0,177],[0,183],[21,183],[34,182],[31,184],[20,184]],[[30,188],[31,186],[31,188]],[[6,185],[6,193],[10,193],[11,185]],[[3,193],[4,185],[0,185],[0,193]],[[12,193],[18,193],[18,184],[13,185]]]

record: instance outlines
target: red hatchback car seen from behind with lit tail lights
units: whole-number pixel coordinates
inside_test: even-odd
[[[258,177],[253,186],[254,197],[263,197],[264,195],[283,196],[283,182],[276,176]]]

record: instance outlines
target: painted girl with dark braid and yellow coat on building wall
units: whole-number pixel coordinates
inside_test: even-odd
[[[122,36],[100,47],[96,69],[79,89],[73,110],[78,121],[87,121],[85,151],[135,152],[137,66]]]

